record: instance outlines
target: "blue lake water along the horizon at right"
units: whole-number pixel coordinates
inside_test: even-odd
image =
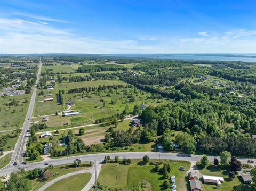
[[[106,55],[106,54],[104,54]],[[107,54],[115,57],[256,62],[256,54]]]

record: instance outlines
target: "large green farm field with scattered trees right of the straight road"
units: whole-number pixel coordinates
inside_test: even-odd
[[[133,110],[134,105],[140,105],[141,103],[144,103],[146,106],[156,106],[158,104],[170,103],[170,101],[168,101],[167,99],[162,99],[160,102],[157,99],[146,99],[147,96],[150,96],[150,93],[145,93],[141,90],[137,90],[134,88],[102,90],[98,93],[89,92],[86,94],[67,93],[68,89],[75,87],[95,87],[99,85],[103,86],[119,84],[125,83],[119,80],[98,80],[56,84],[55,89],[51,92],[51,94],[53,94],[52,102],[42,102],[45,99],[44,95],[48,94],[48,92],[46,91],[44,91],[44,95],[37,96],[36,100],[38,102],[35,103],[34,117],[42,115],[52,115],[55,114],[55,112],[61,113],[62,111],[68,108],[66,104],[60,105],[57,101],[57,96],[55,95],[58,93],[59,89],[65,91],[65,94],[63,94],[65,103],[68,100],[75,102],[75,105],[71,105],[70,110],[79,111],[81,114],[73,117],[51,116],[50,120],[45,122],[49,127],[61,127],[64,123],[68,123],[71,126],[77,126],[81,124],[94,122],[96,119],[107,118],[113,114],[121,113],[125,109],[125,107],[128,107],[129,112],[131,112]],[[40,90],[38,92],[40,92]],[[130,95],[134,96],[134,100],[132,102],[130,102],[129,100]],[[115,100],[116,103],[111,103],[113,100]],[[40,120],[40,118],[36,119],[33,119],[33,122]]]

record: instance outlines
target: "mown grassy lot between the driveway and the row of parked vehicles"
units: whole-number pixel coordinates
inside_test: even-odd
[[[152,161],[152,160],[151,160]],[[178,185],[177,190],[187,190],[186,186],[186,171],[190,167],[190,163],[186,161],[169,161],[161,160],[164,163],[171,165],[170,176],[176,176]],[[156,162],[156,161],[154,161]],[[184,172],[180,172],[178,167],[183,165]],[[113,188],[133,188],[142,181],[146,182],[147,190],[161,190],[164,182],[163,175],[154,172],[155,165],[141,165],[141,160],[132,160],[130,165],[121,165],[117,163],[108,163],[102,165],[102,170],[98,177],[98,181],[105,186]]]

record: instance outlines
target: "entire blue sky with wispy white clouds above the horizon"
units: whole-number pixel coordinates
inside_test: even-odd
[[[0,53],[256,53],[256,1],[1,0]]]

